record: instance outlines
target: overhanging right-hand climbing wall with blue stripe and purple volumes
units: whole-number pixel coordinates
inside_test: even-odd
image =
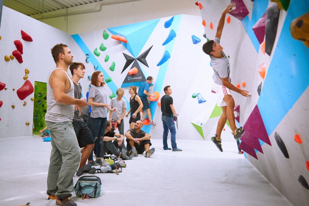
[[[230,2],[199,2],[207,38],[214,38]],[[252,93],[250,98],[232,93],[245,130],[239,147],[292,204],[307,205],[309,5],[295,0],[232,2],[236,10],[226,15],[220,43],[230,56],[231,83],[245,81],[240,88]]]

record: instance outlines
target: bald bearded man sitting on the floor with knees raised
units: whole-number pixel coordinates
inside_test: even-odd
[[[135,147],[135,157],[137,157],[138,154],[143,154],[144,151],[146,151],[145,158],[149,158],[153,153],[155,153],[155,148],[149,149],[149,147],[151,146],[151,136],[150,134],[147,134],[146,132],[141,130],[142,126],[143,122],[138,120],[134,125],[134,129],[129,129],[125,133],[127,149],[129,151],[133,147]]]

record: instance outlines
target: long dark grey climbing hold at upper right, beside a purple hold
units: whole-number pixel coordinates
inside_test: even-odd
[[[265,52],[270,56],[276,39],[280,10],[278,6],[270,6],[266,9],[265,25]]]

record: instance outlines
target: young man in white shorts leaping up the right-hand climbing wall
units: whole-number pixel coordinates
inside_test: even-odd
[[[220,45],[220,38],[224,26],[225,15],[230,13],[231,11],[234,11],[235,8],[236,3],[231,3],[222,11],[222,15],[219,19],[217,32],[214,40],[207,41],[203,45],[203,51],[210,56],[211,64],[214,69],[213,90],[217,94],[217,105],[221,106],[222,108],[222,114],[218,120],[216,134],[214,137],[211,138],[211,140],[221,152],[222,146],[220,137],[222,129],[226,123],[226,119],[229,121],[235,140],[238,140],[244,132],[242,127],[236,128],[234,116],[235,102],[230,90],[235,91],[245,97],[251,96],[249,91],[238,89],[233,84],[231,84],[230,62],[225,53],[223,52],[223,47]]]

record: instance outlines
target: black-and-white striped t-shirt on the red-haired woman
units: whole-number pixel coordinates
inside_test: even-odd
[[[91,85],[88,98],[93,98],[93,102],[107,104],[107,95],[104,86]],[[92,118],[107,117],[107,108],[103,106],[91,106]]]

